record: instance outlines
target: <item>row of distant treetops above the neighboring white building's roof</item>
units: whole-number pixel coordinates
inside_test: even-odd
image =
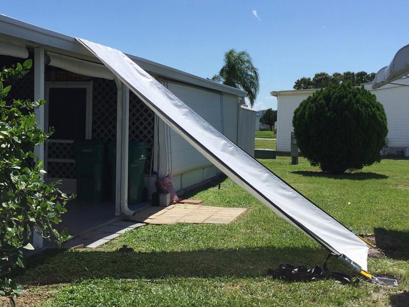
[[[359,86],[362,83],[371,82],[375,78],[375,73],[368,74],[367,72],[345,72],[343,74],[333,73],[329,75],[321,72],[314,75],[312,78],[302,77],[294,82],[294,90],[308,89],[324,89],[332,84],[340,84],[342,82],[350,82],[353,86]]]

